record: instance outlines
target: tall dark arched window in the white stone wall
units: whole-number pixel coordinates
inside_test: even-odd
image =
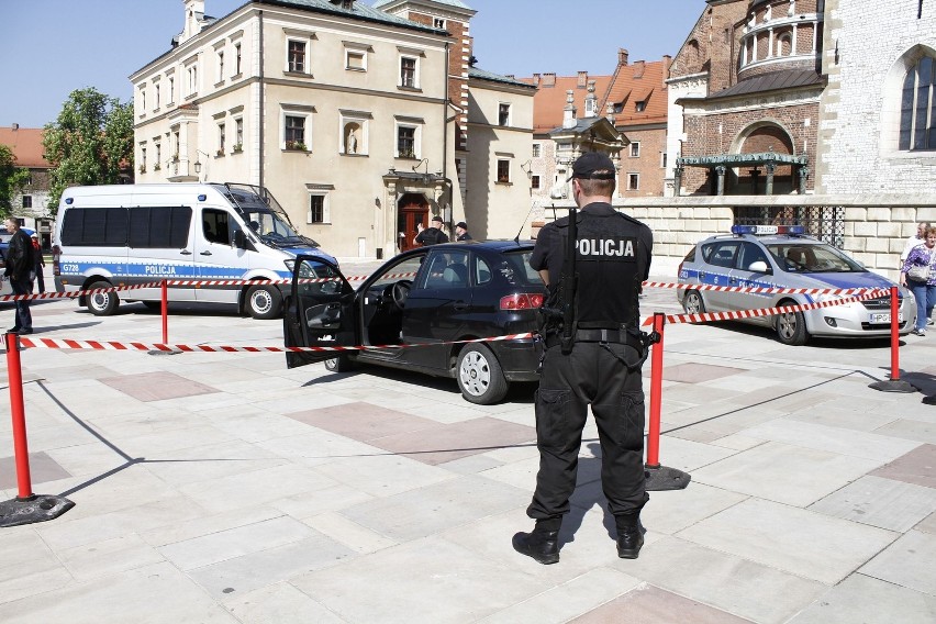
[[[922,57],[903,80],[900,148],[936,149],[936,59]]]

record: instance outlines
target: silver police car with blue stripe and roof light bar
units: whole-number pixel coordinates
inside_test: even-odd
[[[842,250],[804,234],[801,225],[735,225],[732,234],[705,238],[679,265],[679,302],[690,314],[799,305],[844,298],[837,294],[782,294],[714,291],[693,285],[767,288],[884,288],[893,281],[873,274]],[[916,303],[899,289],[900,334],[913,328]],[[845,296],[847,297],[847,296]],[[787,345],[803,345],[811,336],[890,336],[888,296],[865,301],[770,316],[744,319],[777,332]]]

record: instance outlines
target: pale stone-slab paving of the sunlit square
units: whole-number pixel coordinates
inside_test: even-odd
[[[642,305],[678,309],[662,289]],[[0,315],[12,324],[9,304]],[[142,304],[33,316],[35,337],[161,335]],[[281,322],[174,305],[169,342],[280,345]],[[900,349],[927,393],[934,349]],[[651,493],[640,557],[619,559],[590,424],[555,566],[511,548],[532,526],[530,386],[479,406],[452,380],[290,370],[281,354],[21,359],[33,490],[76,506],[0,528],[7,624],[936,621],[936,409],[869,388],[889,376],[887,342],[668,326],[660,458],[692,482]],[[9,500],[8,401],[0,412]]]

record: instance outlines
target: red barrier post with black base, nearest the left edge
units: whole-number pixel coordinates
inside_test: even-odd
[[[23,371],[20,367],[20,337],[8,333],[3,339],[7,347],[7,375],[10,380],[10,412],[13,416],[13,455],[19,495],[0,502],[0,526],[19,526],[58,517],[75,506],[75,503],[65,497],[33,493],[30,448],[26,442],[26,411],[23,403]]]

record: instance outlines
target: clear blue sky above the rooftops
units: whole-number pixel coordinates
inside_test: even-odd
[[[478,66],[519,77],[611,74],[619,47],[632,63],[675,55],[705,8],[705,0],[464,1],[478,11]],[[205,12],[220,18],[245,2],[205,0]],[[0,125],[41,127],[86,87],[130,100],[127,76],[181,30],[182,0],[0,0]]]

